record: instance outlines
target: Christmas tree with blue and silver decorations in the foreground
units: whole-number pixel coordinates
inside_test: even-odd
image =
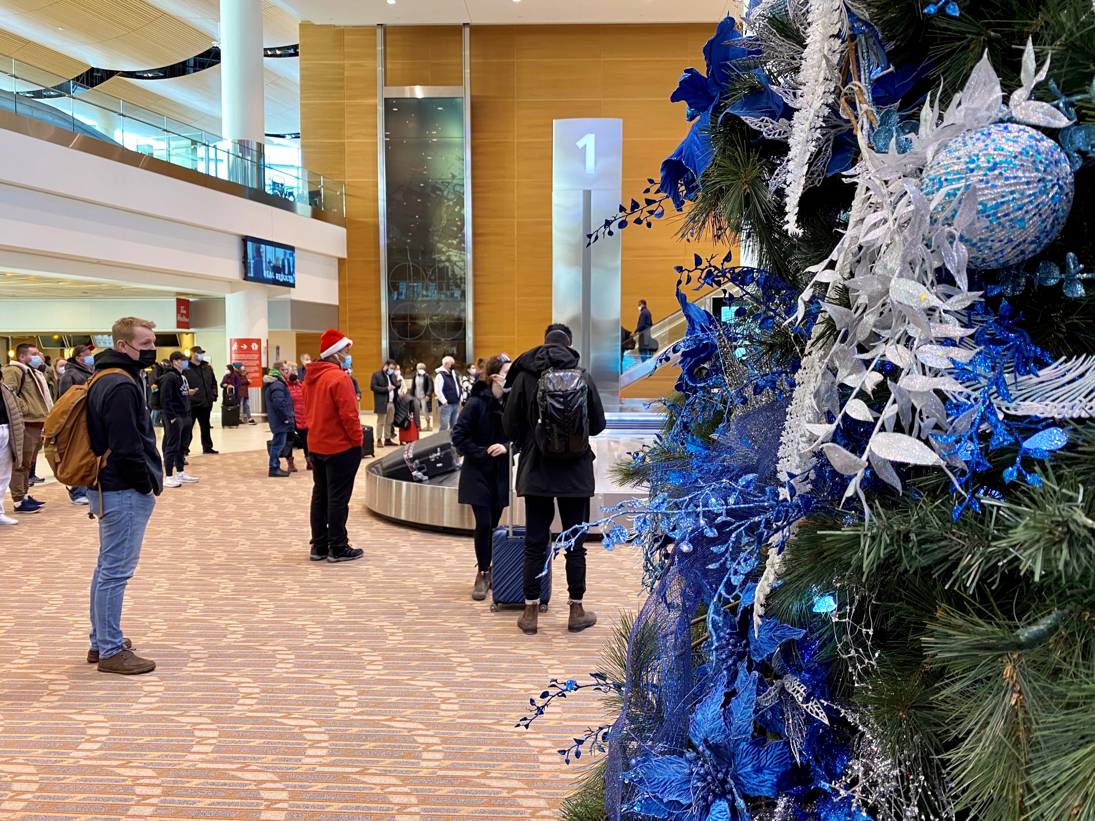
[[[1095,819],[1092,3],[753,0],[703,56],[590,241],[671,201],[754,265],[678,268],[568,816]]]

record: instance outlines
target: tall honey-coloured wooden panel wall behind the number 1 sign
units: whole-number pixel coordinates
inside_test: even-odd
[[[642,199],[688,132],[684,105],[669,94],[685,67],[702,67],[714,30],[715,21],[472,27],[476,357],[537,345],[551,321],[552,120],[623,118],[623,196]],[[460,26],[389,26],[388,84],[459,85],[461,36]],[[365,369],[380,358],[376,30],[301,24],[300,37],[304,164],[346,181],[341,311]],[[679,224],[670,209],[654,228],[622,234],[625,326],[641,298],[655,320],[676,311],[672,266],[714,251],[678,241]]]

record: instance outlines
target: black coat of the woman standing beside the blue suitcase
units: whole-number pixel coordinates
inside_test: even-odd
[[[509,460],[506,454],[492,456],[486,452],[492,444],[508,441],[502,425],[502,403],[489,384],[476,380],[452,428],[452,444],[464,458],[457,501],[495,510],[509,507]]]

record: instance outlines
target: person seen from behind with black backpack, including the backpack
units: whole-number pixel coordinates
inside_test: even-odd
[[[578,366],[578,351],[572,345],[570,328],[552,324],[544,333],[544,344],[517,358],[506,374],[506,410],[503,424],[506,436],[520,451],[517,465],[517,495],[525,497],[525,612],[517,626],[527,634],[537,632],[540,614],[540,574],[543,571],[551,541],[555,505],[563,530],[589,521],[589,500],[593,496],[593,451],[589,437],[604,430],[604,407],[589,373]],[[549,384],[550,383],[550,384]],[[540,396],[550,389],[553,402]],[[541,415],[541,403],[546,403]],[[584,408],[585,429],[567,428],[572,417],[556,408]],[[566,417],[566,418],[564,418]],[[572,633],[592,627],[597,614],[585,610],[585,536],[579,536],[566,556],[566,586],[570,595]]]

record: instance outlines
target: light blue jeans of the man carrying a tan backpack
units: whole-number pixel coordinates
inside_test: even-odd
[[[99,520],[99,564],[91,577],[91,649],[108,659],[125,649],[122,641],[122,600],[137,569],[155,496],[136,490],[88,492],[91,512]],[[103,512],[105,509],[105,512]]]

